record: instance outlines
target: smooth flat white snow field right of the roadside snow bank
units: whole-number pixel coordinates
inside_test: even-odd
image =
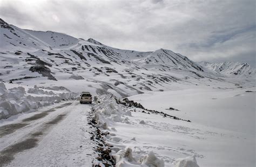
[[[191,122],[140,113],[136,108],[132,116],[124,115],[129,123],[118,123],[113,133],[122,138],[119,145],[131,147],[134,156],[153,151],[165,166],[187,156],[195,156],[199,166],[255,166],[255,91],[255,87],[184,87],[134,95],[128,99]],[[139,123],[142,120],[145,123]]]

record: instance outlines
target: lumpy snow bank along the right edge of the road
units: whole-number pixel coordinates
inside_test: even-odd
[[[114,127],[117,126],[117,123],[130,124],[129,117],[132,114],[129,109],[131,110],[131,108],[120,106],[113,96],[105,95],[98,98],[97,105],[93,106],[95,120],[101,128],[102,133],[108,134],[106,135],[107,142],[115,143],[119,146],[123,144],[123,138],[114,134],[116,132]],[[136,142],[135,138],[132,138],[131,141]],[[132,155],[131,148],[118,148],[114,146],[112,147],[112,156],[116,159],[116,166],[164,167],[164,160],[159,159],[153,151],[150,151],[147,155],[142,154],[135,158]]]

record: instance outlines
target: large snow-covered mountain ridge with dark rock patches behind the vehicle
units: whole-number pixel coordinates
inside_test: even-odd
[[[176,83],[225,81],[222,74],[170,50],[121,50],[92,38],[20,29],[2,19],[0,25],[0,81],[4,82],[66,86],[75,92],[108,90],[127,96],[169,90]],[[76,87],[71,87],[74,81]]]

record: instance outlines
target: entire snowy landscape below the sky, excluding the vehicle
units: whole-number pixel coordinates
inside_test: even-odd
[[[0,26],[0,166],[255,166],[250,65]]]

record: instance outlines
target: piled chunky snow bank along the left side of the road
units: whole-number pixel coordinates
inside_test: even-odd
[[[33,112],[42,106],[76,98],[77,94],[74,93],[53,93],[37,86],[29,88],[28,91],[21,86],[7,89],[4,83],[0,83],[0,119],[6,119],[22,112]]]

